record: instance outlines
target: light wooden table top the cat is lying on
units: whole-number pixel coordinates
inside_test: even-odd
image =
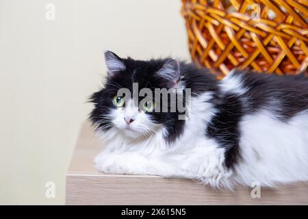
[[[105,175],[94,167],[103,146],[85,122],[66,175],[68,205],[308,205],[308,183],[261,188],[213,190],[190,179],[164,179],[148,175]]]

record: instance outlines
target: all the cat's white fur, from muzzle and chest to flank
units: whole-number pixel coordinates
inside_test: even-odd
[[[224,91],[244,92],[240,79],[225,77]],[[155,125],[138,107],[129,104],[112,113],[109,131],[99,132],[103,152],[95,158],[99,171],[112,174],[160,175],[196,179],[215,188],[308,180],[308,112],[282,123],[272,110],[244,116],[240,122],[242,159],[233,170],[224,167],[224,149],[206,138],[205,127],[216,113],[206,103],[207,92],[190,101],[183,135],[172,145],[164,141],[166,130]],[[131,101],[133,102],[133,101]],[[135,119],[130,127],[125,116]]]

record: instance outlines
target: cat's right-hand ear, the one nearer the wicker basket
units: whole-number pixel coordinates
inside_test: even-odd
[[[179,62],[172,58],[166,60],[162,68],[157,71],[157,75],[159,75],[159,77],[164,77],[165,79],[172,81],[176,86],[180,77]]]

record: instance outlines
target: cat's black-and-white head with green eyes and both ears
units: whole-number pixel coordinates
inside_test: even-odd
[[[176,60],[121,59],[107,51],[105,62],[108,71],[105,88],[91,97],[94,109],[90,119],[98,129],[116,129],[129,138],[138,138],[153,136],[159,129],[165,128],[168,132],[168,129],[175,128],[179,123],[178,113],[160,112],[164,101],[159,100],[158,109],[154,96],[155,88],[170,89],[177,86],[180,73]],[[142,88],[148,88],[153,98],[144,99],[144,96],[138,95]],[[129,91],[130,94],[119,95],[119,90]]]

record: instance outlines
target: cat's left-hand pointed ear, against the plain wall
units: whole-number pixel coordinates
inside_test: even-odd
[[[105,51],[105,63],[108,77],[112,77],[114,74],[126,70],[123,60],[115,53],[112,53],[112,51]]]

